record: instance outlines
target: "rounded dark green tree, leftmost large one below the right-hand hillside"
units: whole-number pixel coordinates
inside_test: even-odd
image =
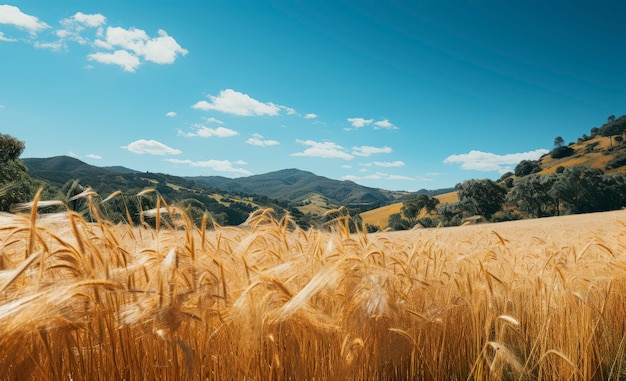
[[[469,214],[491,215],[502,209],[506,190],[493,180],[466,180],[456,185],[461,209]]]

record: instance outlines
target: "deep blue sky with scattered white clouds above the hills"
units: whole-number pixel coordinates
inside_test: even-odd
[[[626,106],[622,1],[0,3],[0,133],[180,176],[497,179]]]

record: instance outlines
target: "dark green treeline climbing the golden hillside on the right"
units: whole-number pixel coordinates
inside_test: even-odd
[[[591,136],[583,134],[579,144],[596,137],[611,139],[607,152],[622,150],[626,135],[626,116],[609,116],[602,127],[591,129]],[[552,158],[571,156],[574,150],[563,145],[561,137],[554,140]],[[571,144],[570,144],[571,145]],[[588,144],[591,152],[598,142]],[[626,155],[615,152],[606,170],[626,164]],[[522,218],[540,218],[567,214],[603,212],[626,206],[626,177],[621,173],[605,173],[599,168],[585,166],[558,167],[555,173],[540,174],[537,160],[521,161],[514,173],[503,175],[498,181],[467,180],[457,184],[459,200],[439,205],[439,201],[425,194],[412,195],[403,201],[400,213],[389,216],[388,227],[406,230],[422,227],[457,226],[465,222],[510,221]]]

